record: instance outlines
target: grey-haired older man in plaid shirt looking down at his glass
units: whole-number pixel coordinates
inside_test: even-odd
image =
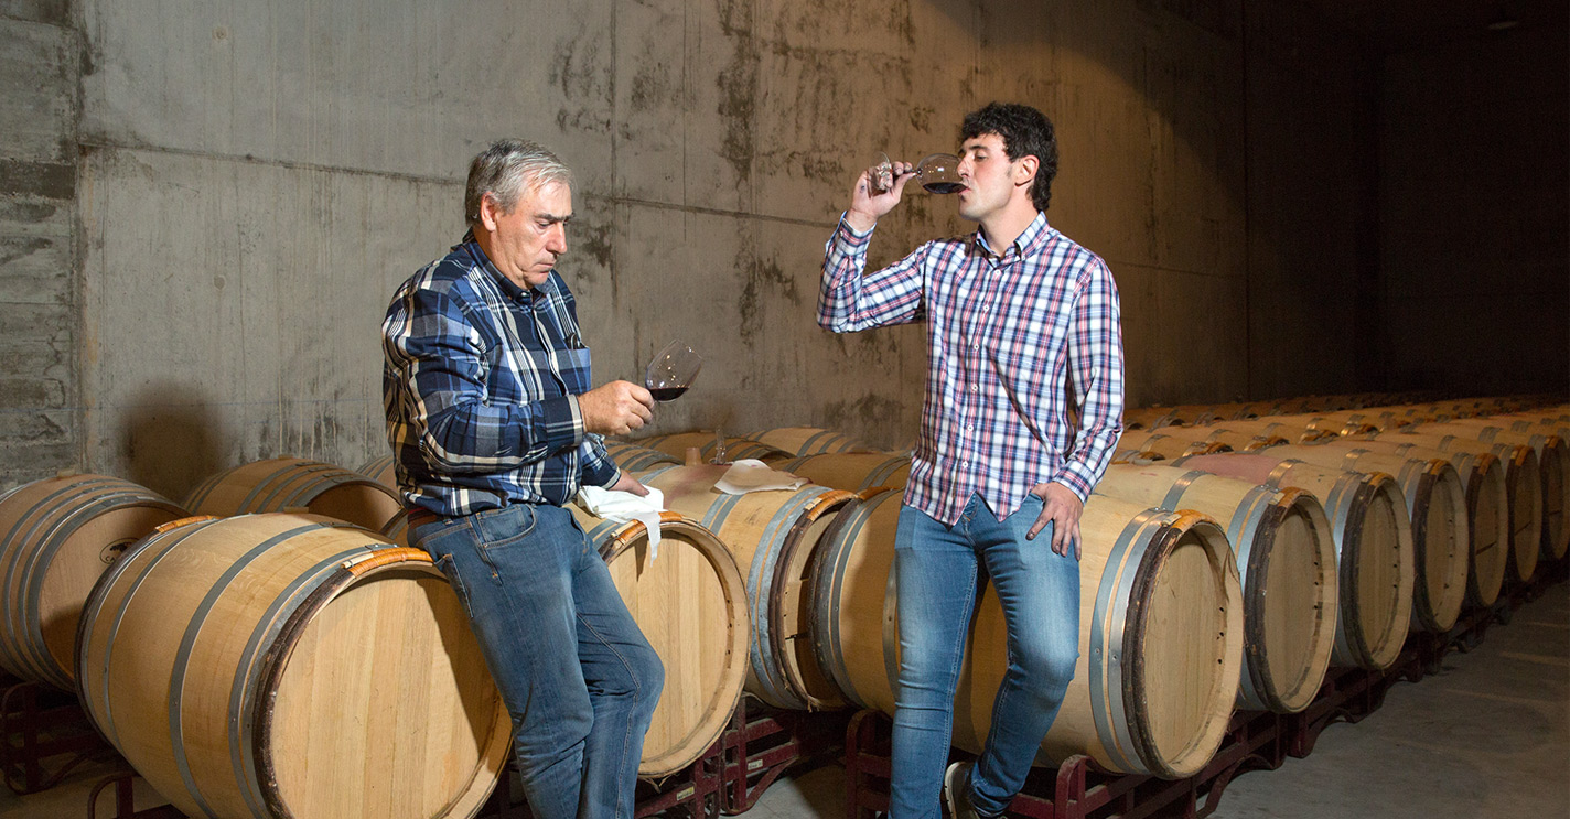
[[[652,416],[628,381],[589,389],[589,347],[556,260],[571,174],[502,140],[469,165],[469,231],[399,287],[383,400],[410,541],[446,573],[512,712],[540,819],[631,817],[664,668],[562,508],[581,485],[647,494],[600,435]]]

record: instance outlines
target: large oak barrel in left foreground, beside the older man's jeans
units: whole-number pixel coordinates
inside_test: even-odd
[[[510,720],[430,555],[317,515],[141,540],[88,596],[77,690],[187,816],[468,817]]]

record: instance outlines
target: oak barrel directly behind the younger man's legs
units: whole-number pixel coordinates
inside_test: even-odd
[[[864,708],[893,712],[900,491],[845,513],[815,573],[813,631],[824,670]],[[1237,566],[1198,513],[1091,496],[1080,518],[1080,645],[1038,764],[1090,755],[1108,770],[1181,778],[1225,734],[1242,667]],[[955,698],[953,742],[980,752],[1006,667],[1002,609],[978,602]]]

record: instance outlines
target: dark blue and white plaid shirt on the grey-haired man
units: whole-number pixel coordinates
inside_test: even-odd
[[[620,477],[584,430],[589,348],[567,282],[523,289],[468,234],[399,287],[382,322],[382,400],[407,504],[462,516],[565,504]]]

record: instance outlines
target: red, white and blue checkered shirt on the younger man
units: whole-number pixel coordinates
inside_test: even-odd
[[[823,259],[818,323],[851,333],[926,322],[926,400],[904,502],[951,526],[972,494],[1000,519],[1036,483],[1086,499],[1123,433],[1123,333],[1105,262],[1046,213],[1002,254],[977,231],[864,273],[870,240],[842,218]]]

